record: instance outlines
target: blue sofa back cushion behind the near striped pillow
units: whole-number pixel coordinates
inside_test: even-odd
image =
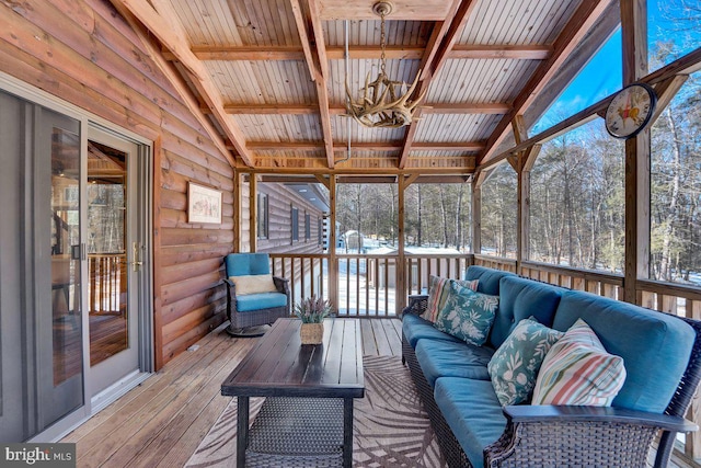
[[[553,328],[584,319],[604,347],[623,358],[627,378],[613,407],[662,413],[677,389],[693,345],[693,329],[676,317],[582,292],[565,292]],[[655,369],[651,376],[650,369]]]

